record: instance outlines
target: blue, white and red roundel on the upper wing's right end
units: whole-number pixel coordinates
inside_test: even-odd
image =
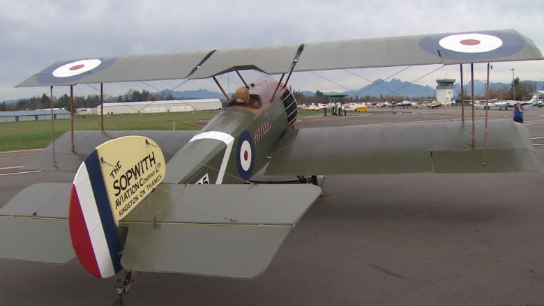
[[[511,56],[524,47],[524,41],[514,33],[485,31],[482,33],[438,34],[425,36],[419,47],[444,59],[489,61]]]

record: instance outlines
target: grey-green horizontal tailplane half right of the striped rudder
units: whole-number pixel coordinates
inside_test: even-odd
[[[251,278],[317,199],[314,185],[161,184],[120,221],[123,268]]]

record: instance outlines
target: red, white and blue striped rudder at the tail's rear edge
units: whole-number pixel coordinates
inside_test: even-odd
[[[68,223],[77,259],[89,273],[105,278],[122,269],[121,243],[96,150],[75,174]]]

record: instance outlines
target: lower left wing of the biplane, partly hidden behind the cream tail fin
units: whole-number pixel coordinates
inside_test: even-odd
[[[39,154],[36,154],[24,166],[25,170],[43,171],[76,171],[83,160],[98,145],[105,141],[128,136],[140,135],[153,139],[163,150],[165,160],[168,161],[179,151],[198,131],[75,131],[75,153],[70,149],[70,132],[66,132],[55,140],[56,165],[53,165],[53,146],[50,144]]]

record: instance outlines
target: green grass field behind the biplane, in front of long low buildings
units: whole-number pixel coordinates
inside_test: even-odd
[[[104,117],[105,130],[200,130],[218,111],[119,114]],[[55,137],[70,131],[70,119],[54,121]],[[100,116],[76,117],[74,130],[100,130]],[[0,151],[43,148],[51,142],[51,121],[0,123]]]

